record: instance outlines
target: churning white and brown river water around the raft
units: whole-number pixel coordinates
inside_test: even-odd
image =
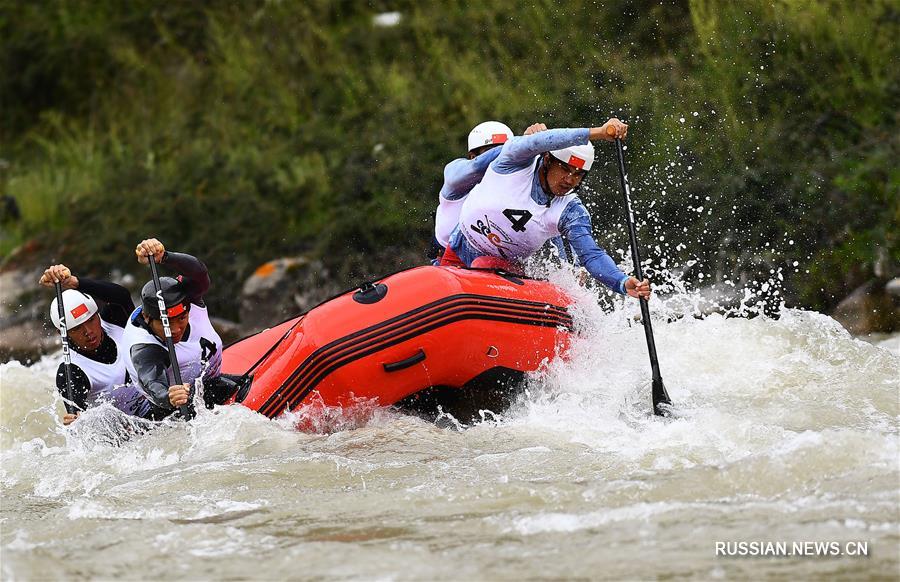
[[[111,410],[62,428],[51,358],[3,364],[2,577],[900,577],[900,338],[653,305],[669,419],[637,306],[587,293],[572,357],[465,430],[222,407],[117,443]]]

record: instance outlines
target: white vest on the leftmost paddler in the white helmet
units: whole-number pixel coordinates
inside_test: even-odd
[[[109,402],[123,412],[140,416],[146,411],[149,403],[144,399],[134,382],[126,382],[128,349],[125,347],[123,340],[125,330],[117,325],[103,321],[102,317],[100,318],[100,327],[116,344],[115,362],[104,364],[103,362],[92,360],[76,350],[69,352],[72,364],[81,368],[90,382],[85,403],[88,406],[96,406],[103,402]]]

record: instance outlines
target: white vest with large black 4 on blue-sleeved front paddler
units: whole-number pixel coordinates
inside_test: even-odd
[[[524,259],[559,236],[559,218],[575,194],[553,196],[550,206],[531,198],[534,171],[531,166],[512,174],[488,167],[481,182],[466,196],[459,228],[479,252],[504,259]]]

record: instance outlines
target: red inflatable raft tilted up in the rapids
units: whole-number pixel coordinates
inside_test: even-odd
[[[223,372],[251,378],[236,401],[270,418],[312,400],[499,412],[511,385],[568,347],[569,302],[547,281],[417,267],[238,341]]]

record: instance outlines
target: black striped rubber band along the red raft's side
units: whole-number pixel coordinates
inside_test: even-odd
[[[317,349],[269,396],[259,412],[273,417],[285,408],[292,409],[328,374],[341,366],[467,319],[566,329],[571,329],[572,325],[572,318],[565,308],[548,303],[468,294],[447,297]]]

